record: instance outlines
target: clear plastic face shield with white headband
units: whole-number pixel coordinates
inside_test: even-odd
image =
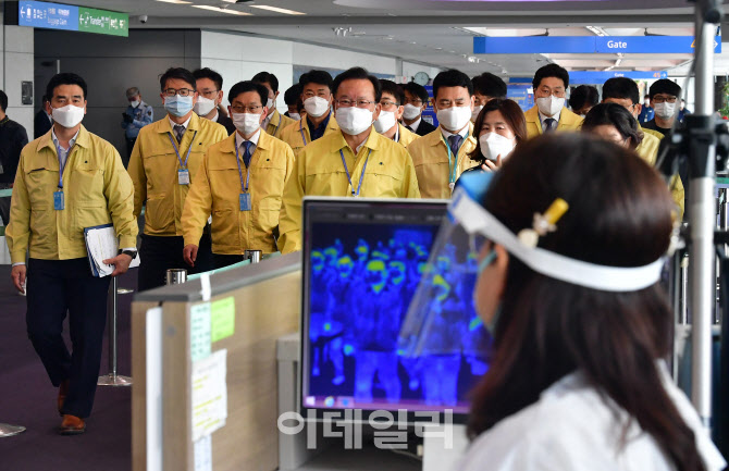
[[[660,278],[663,258],[645,267],[606,267],[536,247],[540,235],[555,230],[548,216],[552,207],[544,214],[534,214],[533,228],[514,234],[480,203],[493,177],[493,173],[471,172],[458,181],[448,218],[400,330],[399,348],[405,357],[461,354],[483,358],[486,354],[492,338],[473,306],[473,290],[481,271],[479,258],[489,241],[503,246],[535,272],[588,288],[633,292]]]

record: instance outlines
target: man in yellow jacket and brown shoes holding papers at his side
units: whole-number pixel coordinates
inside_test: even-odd
[[[71,435],[86,430],[84,419],[91,413],[110,280],[91,275],[84,230],[113,224],[123,251],[103,262],[113,264],[112,276],[118,276],[137,256],[138,228],[132,181],[119,152],[81,124],[84,79],[58,74],[46,92],[53,126],[21,153],[5,237],[13,284],[21,293],[27,275],[28,337],[59,388],[59,432]],[[61,335],[66,311],[71,354]]]

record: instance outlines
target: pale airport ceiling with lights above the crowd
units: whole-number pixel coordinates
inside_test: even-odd
[[[669,75],[683,75],[692,58],[691,54],[625,54],[622,58],[617,54],[473,54],[474,36],[690,36],[693,5],[687,0],[255,0],[245,3],[235,0],[72,0],[70,3],[124,11],[131,15],[133,28],[233,30],[336,46],[435,67],[457,67],[469,74],[487,71],[503,76],[531,75],[541,65],[556,62],[569,70],[667,70]],[[141,24],[139,15],[147,15],[147,23]],[[729,73],[727,46],[724,49],[728,52],[717,57],[716,71],[720,74]],[[618,59],[621,60],[617,62]]]

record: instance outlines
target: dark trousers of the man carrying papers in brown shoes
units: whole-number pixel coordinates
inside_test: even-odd
[[[101,363],[111,278],[91,276],[88,259],[30,259],[27,268],[28,337],[53,386],[69,380],[62,413],[91,413]],[[72,352],[61,333],[69,313]]]

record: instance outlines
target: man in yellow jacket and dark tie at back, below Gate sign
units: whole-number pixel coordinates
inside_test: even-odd
[[[565,94],[569,74],[557,64],[547,64],[534,74],[534,101],[536,104],[524,113],[528,138],[552,132],[574,132],[582,117],[565,108]]]

